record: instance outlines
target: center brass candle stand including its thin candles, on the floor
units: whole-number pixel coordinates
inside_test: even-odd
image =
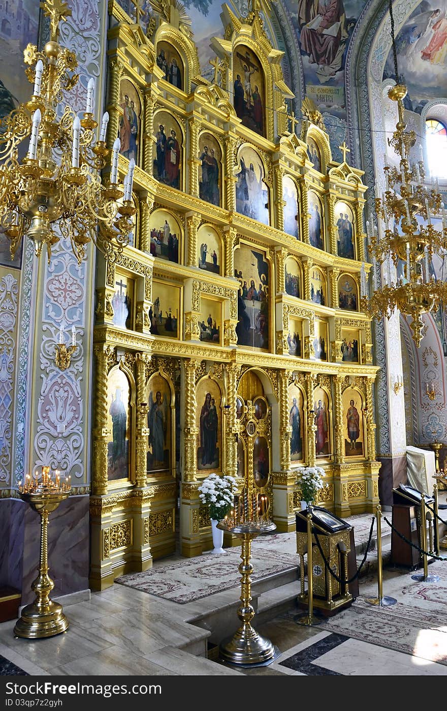
[[[242,540],[239,573],[241,574],[241,604],[237,616],[241,621],[239,629],[232,637],[220,643],[220,656],[223,661],[242,667],[266,665],[274,661],[279,650],[266,637],[258,634],[252,627],[252,619],[256,614],[252,606],[253,566],[252,540],[261,533],[271,533],[276,525],[269,519],[269,498],[266,494],[249,495],[244,488],[241,496],[235,497],[235,506],[229,516],[226,516],[217,528],[237,535]]]

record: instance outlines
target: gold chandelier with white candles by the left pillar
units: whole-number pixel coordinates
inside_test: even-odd
[[[75,53],[58,43],[60,22],[71,11],[62,0],[45,0],[41,7],[50,18],[50,41],[41,52],[31,44],[24,52],[33,96],[0,122],[0,228],[11,242],[12,259],[23,235],[28,235],[38,257],[47,246],[49,262],[51,247],[63,235],[80,263],[90,241],[105,253],[127,244],[131,215],[136,212],[131,200],[134,161],[124,185],[119,184],[117,139],[109,184],[102,185],[100,171],[110,153],[109,114],[102,117],[96,139],[93,79],[81,119],[63,102],[63,90],[72,90],[79,80]],[[20,159],[25,152],[22,141],[28,136],[26,157]]]

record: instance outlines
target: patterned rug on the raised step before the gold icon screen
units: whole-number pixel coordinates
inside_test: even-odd
[[[219,555],[205,553],[195,558],[182,559],[173,565],[122,575],[115,582],[185,604],[215,592],[239,587],[241,576],[237,567],[240,562],[240,548],[229,548]],[[251,578],[256,582],[287,570],[296,570],[298,577],[298,562],[297,555],[264,548],[253,550],[254,572]]]

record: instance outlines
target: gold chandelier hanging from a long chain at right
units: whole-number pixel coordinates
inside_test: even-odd
[[[416,144],[416,133],[407,131],[404,121],[406,86],[399,83],[392,0],[389,0],[389,15],[397,83],[389,89],[388,96],[397,102],[399,120],[388,144],[394,148],[400,162],[399,169],[391,167],[387,156],[384,156],[386,190],[380,196],[376,188],[375,195],[375,213],[377,219],[383,221],[384,236],[379,238],[377,228],[371,230],[367,223],[368,248],[372,255],[371,296],[367,296],[367,277],[365,267],[362,266],[360,304],[363,311],[376,318],[389,318],[396,308],[404,316],[411,316],[411,333],[419,348],[424,329],[422,316],[447,298],[446,282],[430,277],[431,258],[434,254],[442,258],[447,247],[447,219],[438,182],[432,180],[431,189],[424,185],[426,171],[421,146],[419,161],[412,164],[409,160],[410,151]],[[442,229],[437,230],[433,226],[432,217],[440,213]],[[400,279],[396,277],[394,283],[391,264],[397,267],[399,260],[405,264],[404,275]],[[377,264],[384,265],[380,284]]]

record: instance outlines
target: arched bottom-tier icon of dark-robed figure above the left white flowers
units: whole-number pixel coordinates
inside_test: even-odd
[[[222,395],[212,378],[203,378],[195,393],[196,422],[199,428],[198,469],[220,468],[220,432],[222,429]]]

